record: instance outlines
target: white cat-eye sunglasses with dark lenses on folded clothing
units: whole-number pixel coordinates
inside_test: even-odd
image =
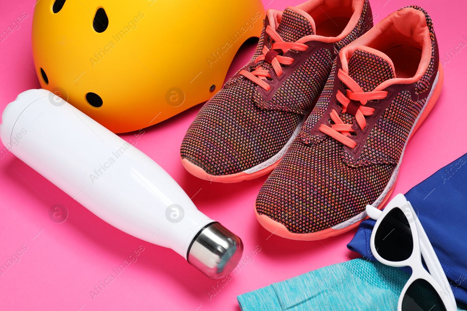
[[[388,266],[412,269],[397,311],[457,311],[453,291],[438,257],[403,194],[397,194],[383,211],[371,205],[367,205],[366,211],[376,220],[370,241],[375,258]]]

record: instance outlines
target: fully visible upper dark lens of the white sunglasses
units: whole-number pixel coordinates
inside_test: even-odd
[[[410,224],[400,208],[392,209],[381,221],[375,235],[375,247],[381,257],[392,262],[406,260],[412,254]]]

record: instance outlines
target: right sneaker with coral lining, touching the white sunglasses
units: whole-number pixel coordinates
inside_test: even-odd
[[[439,97],[442,67],[432,20],[420,7],[390,14],[340,51],[301,132],[256,199],[270,232],[318,240],[382,208],[405,146]]]

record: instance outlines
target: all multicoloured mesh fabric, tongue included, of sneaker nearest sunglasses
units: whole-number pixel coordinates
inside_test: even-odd
[[[434,49],[435,41],[432,46]],[[334,63],[333,72],[300,135],[269,175],[256,199],[258,214],[282,223],[292,233],[333,227],[374,203],[388,185],[410,130],[425,105],[426,98],[413,101],[409,91],[396,94],[368,135],[359,159],[355,160],[336,139],[310,134],[331,100],[335,66]],[[413,84],[414,90],[417,91],[420,83],[429,85],[435,73],[429,68]],[[356,50],[352,55],[349,76],[364,91],[371,91],[395,77],[388,62],[363,50]],[[344,123],[355,121],[347,113],[341,113],[340,117]]]

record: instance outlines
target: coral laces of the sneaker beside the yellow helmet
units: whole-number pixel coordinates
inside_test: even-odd
[[[297,51],[304,51],[308,48],[308,46],[304,43],[297,43],[297,42],[285,42],[282,40],[281,36],[274,30],[271,26],[268,25],[266,27],[266,32],[269,36],[275,41],[271,45],[271,49],[264,46],[262,49],[262,54],[256,57],[255,63],[260,61],[265,61],[272,65],[272,68],[276,72],[277,76],[282,75],[282,66],[283,65],[290,65],[294,59],[292,57],[282,56],[279,55],[280,52],[278,50],[282,50],[283,53],[287,52],[290,49],[294,49]],[[266,78],[270,78],[271,75],[269,74],[269,70],[263,69],[260,66],[255,67],[254,71],[247,71],[241,70],[240,75],[245,76],[246,78],[250,79],[254,83],[261,86],[264,90],[269,91],[271,88],[268,83],[264,82]]]

